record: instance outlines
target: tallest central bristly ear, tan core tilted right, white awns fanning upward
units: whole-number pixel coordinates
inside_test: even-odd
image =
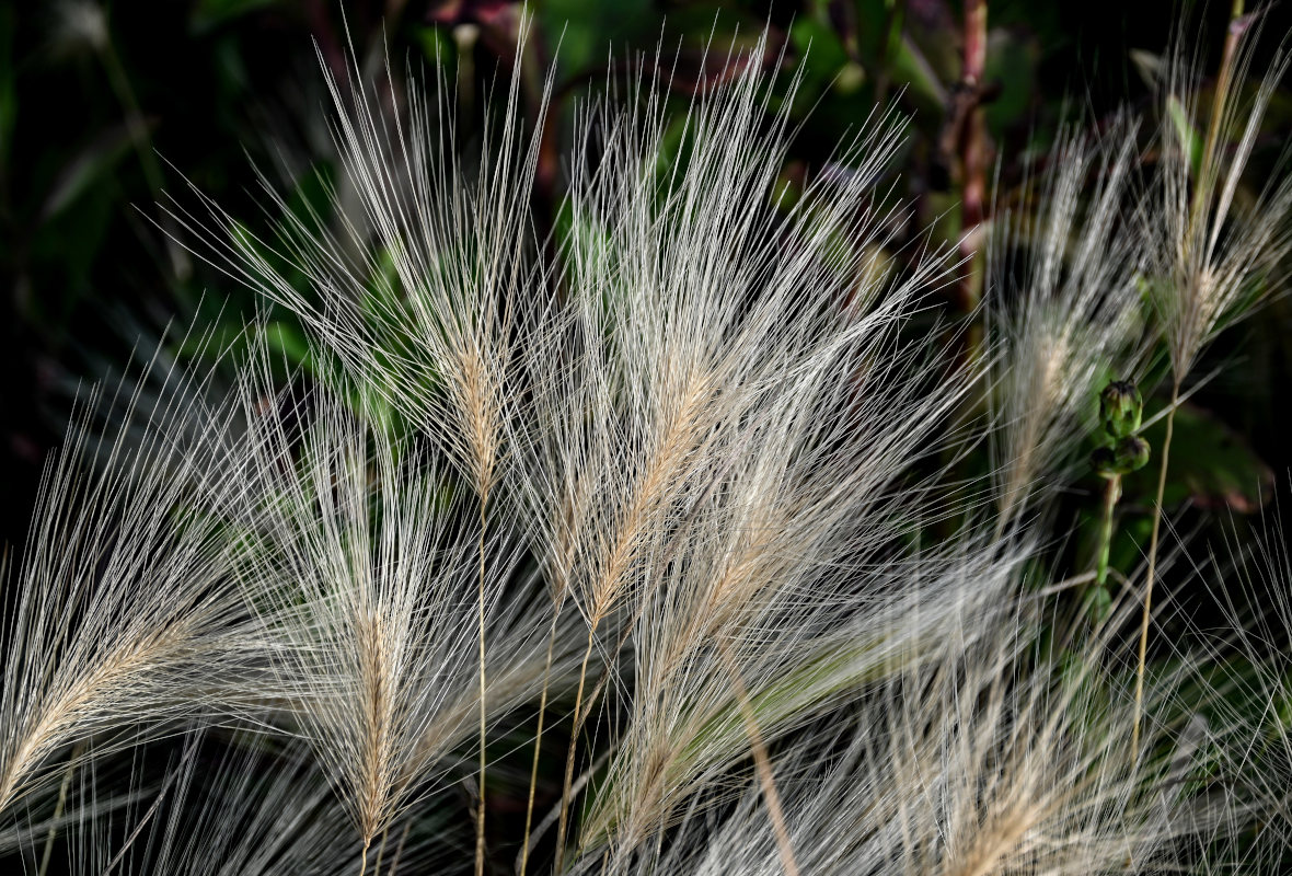
[[[873,256],[888,217],[864,207],[899,138],[891,120],[858,134],[844,182],[818,181],[779,216],[788,121],[767,114],[757,71],[690,107],[685,167],[665,169],[664,98],[638,85],[641,107],[593,103],[576,125],[575,154],[594,158],[571,172],[563,297],[525,335],[534,402],[517,481],[549,583],[593,629],[630,616],[649,543],[749,452],[747,420],[826,362],[840,367],[832,388],[846,385],[841,351],[942,280],[930,258],[890,283]]]

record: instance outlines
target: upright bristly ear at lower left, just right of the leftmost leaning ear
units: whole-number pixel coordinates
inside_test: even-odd
[[[275,643],[282,695],[367,846],[475,730],[477,667],[464,656],[475,650],[481,565],[490,721],[541,687],[545,645],[534,636],[552,606],[501,601],[517,543],[501,521],[481,534],[461,482],[425,446],[367,426],[322,389],[283,416],[262,403],[255,367],[243,394],[253,497],[239,580]],[[568,660],[557,658],[559,678]]]

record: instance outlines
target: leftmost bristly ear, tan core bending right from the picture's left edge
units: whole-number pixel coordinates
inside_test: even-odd
[[[109,753],[216,705],[200,680],[245,659],[218,519],[239,501],[242,460],[227,452],[231,408],[202,401],[207,377],[164,372],[149,408],[138,406],[143,379],[123,382],[103,402],[106,432],[90,398],[45,469],[6,581],[0,811],[22,805],[79,742],[93,736],[93,751]]]

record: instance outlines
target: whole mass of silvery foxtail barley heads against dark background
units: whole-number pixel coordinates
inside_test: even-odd
[[[470,149],[455,85],[333,67],[327,209],[267,176],[269,233],[198,185],[163,208],[255,318],[84,394],[45,468],[5,568],[6,866],[1286,872],[1276,525],[1196,570],[1218,625],[1152,605],[1193,561],[1186,380],[1292,248],[1286,174],[1239,196],[1287,67],[1258,30],[1205,105],[1163,62],[1155,163],[1129,112],[1074,128],[968,244],[899,234],[884,106],[787,193],[766,36],[681,107],[663,53],[581,102],[559,227],[523,40]]]

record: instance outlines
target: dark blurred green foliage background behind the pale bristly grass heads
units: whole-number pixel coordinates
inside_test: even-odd
[[[1152,162],[1151,78],[1185,36],[1199,89],[1217,67],[1229,3],[979,0],[986,67],[972,96],[985,121],[986,216],[1028,209],[1026,185],[1043,176],[1058,132],[1097,132],[1119,118],[1145,130]],[[1256,67],[1288,32],[1288,4],[1262,19]],[[532,17],[517,52],[521,21]],[[484,124],[491,83],[525,67],[527,124],[543,136],[534,193],[559,233],[562,167],[574,107],[623,78],[628,62],[658,66],[678,111],[720,76],[733,47],[748,52],[764,27],[769,103],[779,106],[792,70],[802,81],[788,111],[796,128],[782,168],[788,196],[814,174],[846,171],[835,143],[872,107],[891,105],[910,137],[890,182],[912,205],[901,244],[933,229],[955,240],[966,173],[961,165],[965,8],[946,0],[662,3],[656,0],[71,0],[0,5],[0,537],[25,540],[41,466],[61,439],[79,385],[111,379],[168,322],[236,332],[255,296],[185,248],[186,233],[158,207],[216,199],[258,234],[274,209],[257,173],[287,209],[326,209],[335,173],[322,68],[346,79],[358,67],[380,80],[384,58],[448,83],[460,105],[464,150]],[[616,62],[607,63],[609,58]],[[655,65],[655,59],[663,62]],[[636,59],[636,61],[633,61]],[[642,61],[643,59],[643,61]],[[545,71],[553,98],[540,112]],[[1253,158],[1260,186],[1278,173],[1292,132],[1292,97],[1275,96]],[[950,289],[943,306],[972,302]],[[293,327],[282,320],[284,344]],[[301,349],[304,340],[300,340]],[[174,350],[182,358],[182,350]],[[287,350],[288,355],[298,354]],[[1260,526],[1292,465],[1292,305],[1276,297],[1222,336],[1200,373],[1208,381],[1182,416],[1168,497],[1177,523],[1209,536]],[[1093,399],[1092,399],[1093,404]],[[1150,411],[1162,399],[1150,399]],[[1149,470],[1155,472],[1156,465]],[[1094,478],[1072,485],[1058,526],[1088,527]],[[1114,563],[1134,563],[1147,514],[1136,514],[1147,479],[1127,486],[1127,523]],[[1274,501],[1278,501],[1276,499]],[[1196,512],[1196,513],[1194,513]],[[1221,532],[1220,528],[1229,527]],[[1213,531],[1214,530],[1214,531]],[[1242,537],[1242,536],[1239,536]],[[1080,539],[1072,539],[1080,550]],[[1120,557],[1120,559],[1119,559]]]

